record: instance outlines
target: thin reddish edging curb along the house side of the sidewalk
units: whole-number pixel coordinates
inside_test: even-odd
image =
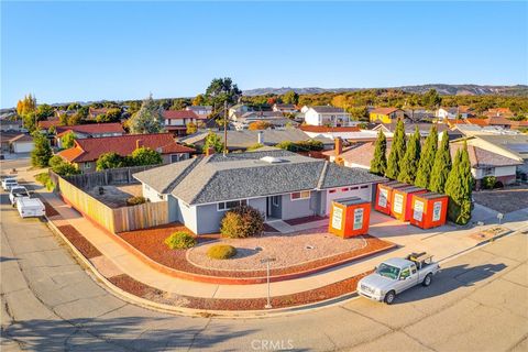
[[[69,207],[75,209],[77,212],[79,212],[82,217],[85,217],[87,220],[89,220],[94,226],[102,230],[103,233],[109,237],[110,240],[114,241],[117,244],[119,244],[123,250],[125,250],[129,254],[134,255],[136,258],[139,258],[143,264],[150,266],[151,268],[163,273],[165,275],[169,275],[175,278],[182,278],[190,282],[197,282],[197,283],[205,283],[205,284],[217,284],[217,285],[257,285],[257,284],[265,284],[267,283],[267,278],[265,276],[258,276],[258,277],[230,277],[230,276],[208,276],[204,274],[195,274],[195,273],[189,273],[189,272],[183,272],[178,271],[172,267],[168,267],[164,264],[157,263],[156,261],[152,260],[148,257],[146,254],[134,248],[132,244],[123,240],[120,235],[116,233],[109,232],[107,229],[98,224],[96,221],[94,221],[90,217],[85,215],[82,211],[78,210],[76,207],[72,205],[70,201],[68,201],[66,198],[62,197],[61,198],[64,200],[65,204],[67,204]],[[388,241],[385,241],[388,242]],[[388,242],[391,243],[391,242]],[[328,271],[333,267],[338,267],[344,264],[349,264],[355,261],[361,261],[364,257],[371,256],[371,255],[376,255],[383,252],[388,252],[392,251],[396,248],[398,248],[396,244],[391,243],[392,245],[375,250],[373,252],[369,253],[363,253],[360,255],[356,255],[354,257],[350,258],[344,258],[339,262],[326,264],[319,267],[310,268],[310,270],[305,270],[301,272],[297,273],[290,273],[290,274],[280,274],[280,275],[274,275],[270,276],[270,282],[271,283],[277,283],[277,282],[284,282],[284,280],[289,280],[289,279],[296,279],[300,277],[305,277],[308,275],[317,274],[317,273],[322,273],[324,271]]]

